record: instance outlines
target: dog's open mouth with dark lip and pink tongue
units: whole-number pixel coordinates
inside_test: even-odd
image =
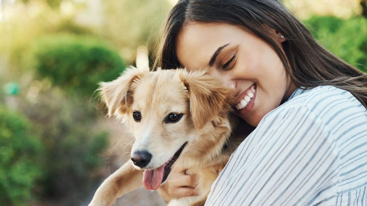
[[[152,170],[144,170],[143,186],[147,190],[157,190],[159,186],[166,181],[168,174],[171,172],[171,166],[180,156],[187,141],[176,151],[176,153],[162,166]]]

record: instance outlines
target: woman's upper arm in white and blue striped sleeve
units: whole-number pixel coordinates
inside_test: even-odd
[[[338,148],[305,106],[267,115],[231,156],[206,205],[312,205],[337,193]]]

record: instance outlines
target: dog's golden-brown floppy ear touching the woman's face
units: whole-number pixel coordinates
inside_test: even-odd
[[[190,115],[195,128],[201,129],[220,111],[230,109],[232,91],[205,71],[182,70],[180,78],[189,93]]]

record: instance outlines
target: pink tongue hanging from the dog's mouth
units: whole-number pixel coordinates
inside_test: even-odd
[[[143,175],[143,186],[147,190],[157,190],[162,183],[164,175],[164,165],[157,169],[145,170]]]

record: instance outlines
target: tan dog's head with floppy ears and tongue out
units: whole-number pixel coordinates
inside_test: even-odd
[[[101,83],[100,92],[108,114],[123,117],[132,129],[131,160],[145,169],[143,185],[153,190],[185,146],[195,147],[203,128],[230,108],[231,93],[205,71],[149,71],[139,65]]]

